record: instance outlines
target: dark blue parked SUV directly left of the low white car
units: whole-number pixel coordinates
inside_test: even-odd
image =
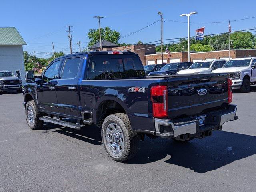
[[[169,63],[163,66],[159,71],[150,72],[149,75],[171,75],[176,74],[180,70],[188,69],[193,62]]]

